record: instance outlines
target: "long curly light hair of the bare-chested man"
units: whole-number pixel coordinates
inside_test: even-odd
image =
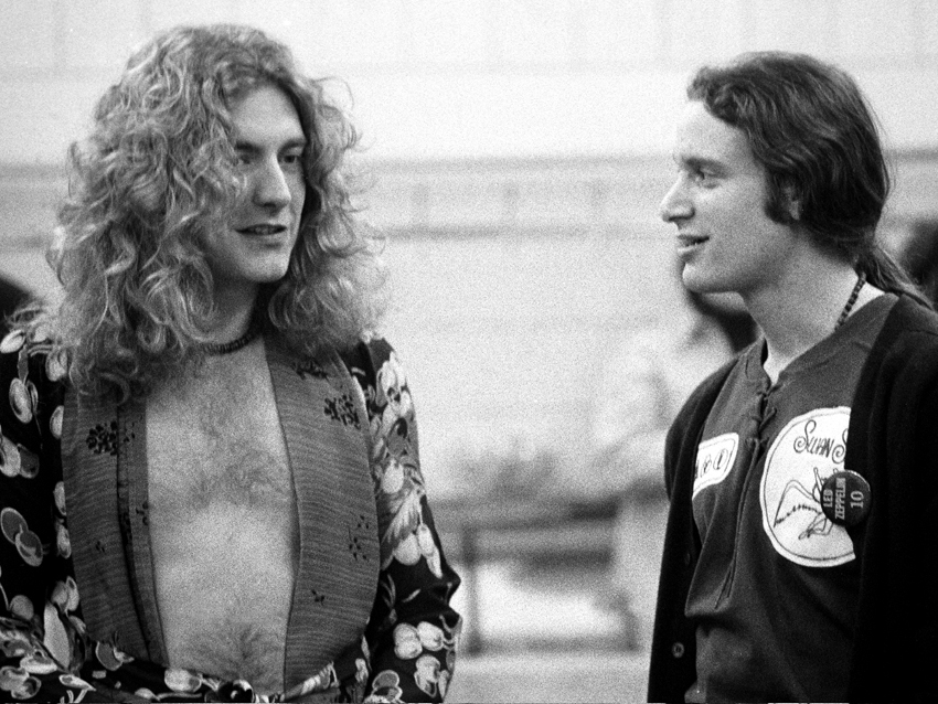
[[[166,31],[130,57],[70,150],[70,194],[50,264],[64,287],[51,324],[85,393],[145,395],[154,378],[203,359],[213,280],[202,234],[224,226],[239,182],[230,108],[262,85],[296,107],[308,146],[306,202],[284,279],[258,316],[303,354],[374,329],[384,305],[381,238],[354,217],[343,158],[358,142],[322,82],[290,51],[237,25]]]

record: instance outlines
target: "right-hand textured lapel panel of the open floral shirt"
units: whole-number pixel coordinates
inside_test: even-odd
[[[287,630],[289,689],[361,639],[377,590],[377,515],[367,414],[344,365],[334,354],[317,360],[323,377],[301,373],[297,360],[274,343],[267,354],[300,521]],[[330,414],[335,404],[347,412],[341,417]]]

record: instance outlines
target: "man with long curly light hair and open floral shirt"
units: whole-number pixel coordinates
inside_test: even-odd
[[[0,698],[445,695],[459,579],[354,143],[243,26],[160,34],[98,103],[62,303],[0,343]]]

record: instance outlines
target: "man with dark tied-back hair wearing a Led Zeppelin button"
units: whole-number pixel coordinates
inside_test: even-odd
[[[938,653],[938,316],[880,247],[854,81],[757,53],[687,89],[684,286],[761,338],[671,427],[650,701],[924,701]]]

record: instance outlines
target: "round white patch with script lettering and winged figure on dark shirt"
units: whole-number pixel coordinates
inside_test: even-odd
[[[791,419],[766,456],[759,489],[763,529],[779,555],[806,567],[854,558],[853,541],[821,508],[821,487],[843,469],[850,408],[817,408]]]

